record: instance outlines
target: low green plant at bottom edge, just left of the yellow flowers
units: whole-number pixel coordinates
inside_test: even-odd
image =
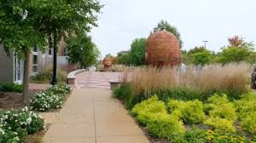
[[[187,130],[184,134],[184,139],[188,143],[203,143],[206,142],[206,131],[192,126],[190,130]]]

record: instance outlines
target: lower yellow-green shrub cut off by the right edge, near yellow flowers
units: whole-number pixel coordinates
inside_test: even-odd
[[[256,137],[256,112],[250,112],[241,119],[241,129]]]

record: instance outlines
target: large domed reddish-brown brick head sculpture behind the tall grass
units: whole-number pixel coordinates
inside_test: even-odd
[[[155,31],[148,37],[145,56],[148,66],[177,66],[181,63],[177,37],[169,31]]]

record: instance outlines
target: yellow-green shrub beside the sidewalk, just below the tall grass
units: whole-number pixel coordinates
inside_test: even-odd
[[[135,116],[140,123],[146,125],[148,121],[154,117],[167,115],[166,105],[154,95],[150,99],[143,100],[141,103],[134,106],[131,110],[131,114]]]

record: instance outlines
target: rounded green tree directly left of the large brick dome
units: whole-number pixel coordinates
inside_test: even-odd
[[[131,43],[131,51],[129,53],[131,65],[145,65],[146,42],[146,38],[137,38]]]

